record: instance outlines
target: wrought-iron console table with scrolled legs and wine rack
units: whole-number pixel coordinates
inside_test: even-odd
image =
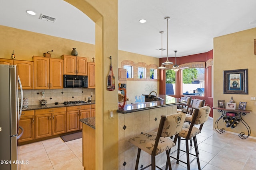
[[[226,108],[220,108],[220,107],[212,107],[213,109],[218,109],[218,112],[219,113],[222,113],[222,115],[215,121],[215,124],[214,124],[214,128],[215,130],[218,132],[218,133],[223,133],[225,130],[225,128],[221,128],[219,129],[218,128],[218,123],[219,121],[222,119],[222,117],[224,115],[226,115],[226,111],[231,111],[231,112],[236,112],[238,113],[238,117],[239,119],[241,119],[240,122],[242,122],[244,124],[244,126],[246,127],[247,131],[248,131],[248,135],[246,136],[244,132],[241,132],[240,134],[238,134],[238,136],[241,138],[241,139],[246,139],[250,136],[251,134],[251,129],[249,127],[249,125],[244,121],[244,119],[242,118],[242,116],[246,115],[247,113],[251,113],[252,111],[251,110],[238,110],[238,109],[226,109]]]

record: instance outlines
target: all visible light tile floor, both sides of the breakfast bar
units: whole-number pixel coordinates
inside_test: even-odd
[[[228,129],[226,129],[228,130]],[[203,170],[256,170],[256,139],[240,139],[237,134],[224,132],[219,134],[213,128],[209,118],[197,135],[200,165]],[[184,149],[184,141],[181,147]],[[60,137],[48,139],[18,147],[21,160],[29,164],[21,170],[82,170],[82,139],[64,143]],[[192,146],[191,152],[194,152]],[[183,154],[180,158],[186,160]],[[186,170],[186,164],[176,164],[172,160],[173,170]],[[191,170],[197,170],[196,160]]]

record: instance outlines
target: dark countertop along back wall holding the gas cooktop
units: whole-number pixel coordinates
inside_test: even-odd
[[[37,110],[37,109],[48,109],[48,108],[56,108],[56,107],[68,107],[68,106],[78,106],[78,105],[88,105],[88,104],[95,104],[95,100],[88,103],[82,103],[82,104],[68,104],[64,105],[62,103],[59,104],[46,104],[46,105],[29,105],[28,107],[23,107],[22,110]]]

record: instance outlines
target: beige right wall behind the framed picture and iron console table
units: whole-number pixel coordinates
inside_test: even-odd
[[[256,106],[250,100],[251,96],[256,96],[256,55],[254,55],[254,39],[256,38],[256,28],[240,31],[214,38],[214,106],[218,106],[218,100],[229,102],[233,96],[236,107],[239,102],[247,102],[246,109],[252,110],[242,118],[248,123],[251,129],[251,136],[256,137]],[[248,68],[248,92],[249,94],[223,94],[223,71]],[[214,110],[214,121],[220,117],[220,113]],[[220,121],[219,128],[224,127],[226,131],[234,133],[244,132],[248,134],[245,126],[240,123],[234,129],[226,128],[223,121]]]

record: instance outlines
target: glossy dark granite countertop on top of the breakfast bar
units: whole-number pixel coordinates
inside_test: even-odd
[[[125,105],[124,108],[119,108],[117,110],[118,113],[132,113],[136,111],[142,111],[142,110],[148,110],[148,109],[154,109],[157,107],[164,107],[164,106],[172,106],[174,104],[182,104],[186,103],[185,100],[181,100],[180,98],[174,98],[172,96],[167,95],[159,95],[158,97],[164,99],[154,102],[141,102],[136,104],[128,104]]]

